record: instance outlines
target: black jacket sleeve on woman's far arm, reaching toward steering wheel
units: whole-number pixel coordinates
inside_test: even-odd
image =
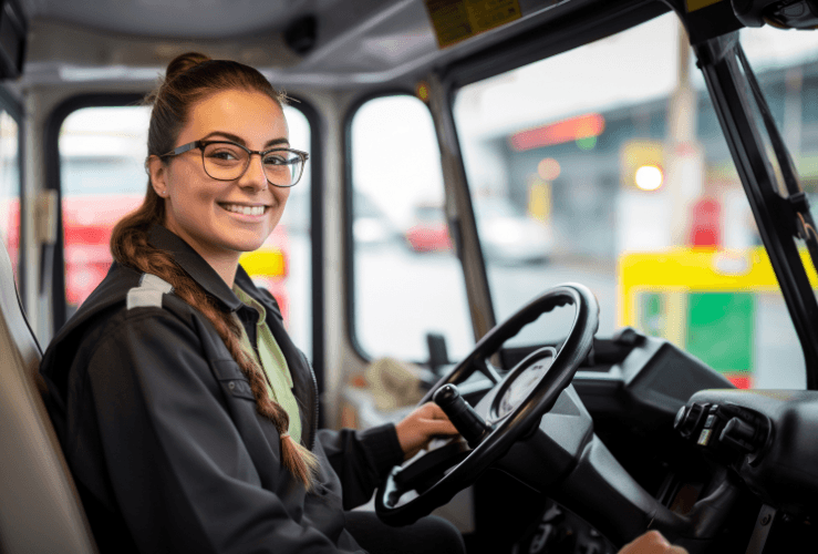
[[[363,431],[320,430],[318,440],[341,479],[344,510],[366,503],[381,480],[404,458],[392,423]]]

